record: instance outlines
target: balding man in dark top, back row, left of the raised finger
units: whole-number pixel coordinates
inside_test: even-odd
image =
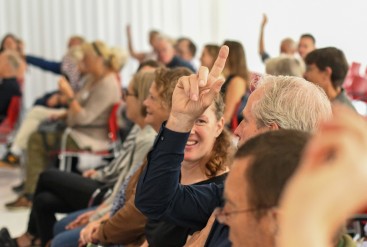
[[[195,71],[194,67],[187,61],[176,55],[172,42],[167,37],[160,37],[157,41],[156,51],[158,61],[163,63],[167,68],[186,67]]]

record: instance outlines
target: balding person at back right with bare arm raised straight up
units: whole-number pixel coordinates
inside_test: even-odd
[[[263,20],[261,22],[260,27],[260,38],[259,38],[259,55],[261,60],[265,62],[270,58],[270,55],[266,52],[265,44],[264,44],[264,29],[268,22],[268,17],[264,14]],[[297,51],[296,42],[291,38],[285,38],[280,43],[280,54],[286,54],[289,56],[294,56]]]

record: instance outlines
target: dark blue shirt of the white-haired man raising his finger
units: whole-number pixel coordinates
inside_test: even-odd
[[[214,209],[222,205],[223,184],[179,183],[189,135],[190,132],[161,128],[148,154],[148,165],[140,176],[135,206],[151,220],[165,220],[199,231]],[[215,222],[209,236],[206,246],[230,246],[227,226]],[[216,243],[224,245],[214,245]]]

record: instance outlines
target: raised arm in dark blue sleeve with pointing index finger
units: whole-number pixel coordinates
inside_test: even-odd
[[[180,168],[186,141],[195,119],[213,102],[223,80],[219,79],[228,56],[223,46],[210,71],[181,77],[172,96],[166,126],[148,155],[148,165],[139,179],[136,207],[151,219],[164,219],[194,230],[205,226],[213,209],[220,205],[223,186],[180,185]]]

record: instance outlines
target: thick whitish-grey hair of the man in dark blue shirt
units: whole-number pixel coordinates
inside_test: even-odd
[[[322,120],[331,118],[331,103],[315,84],[294,76],[267,75],[257,90],[263,95],[252,106],[257,125],[277,124],[281,129],[312,132]]]

